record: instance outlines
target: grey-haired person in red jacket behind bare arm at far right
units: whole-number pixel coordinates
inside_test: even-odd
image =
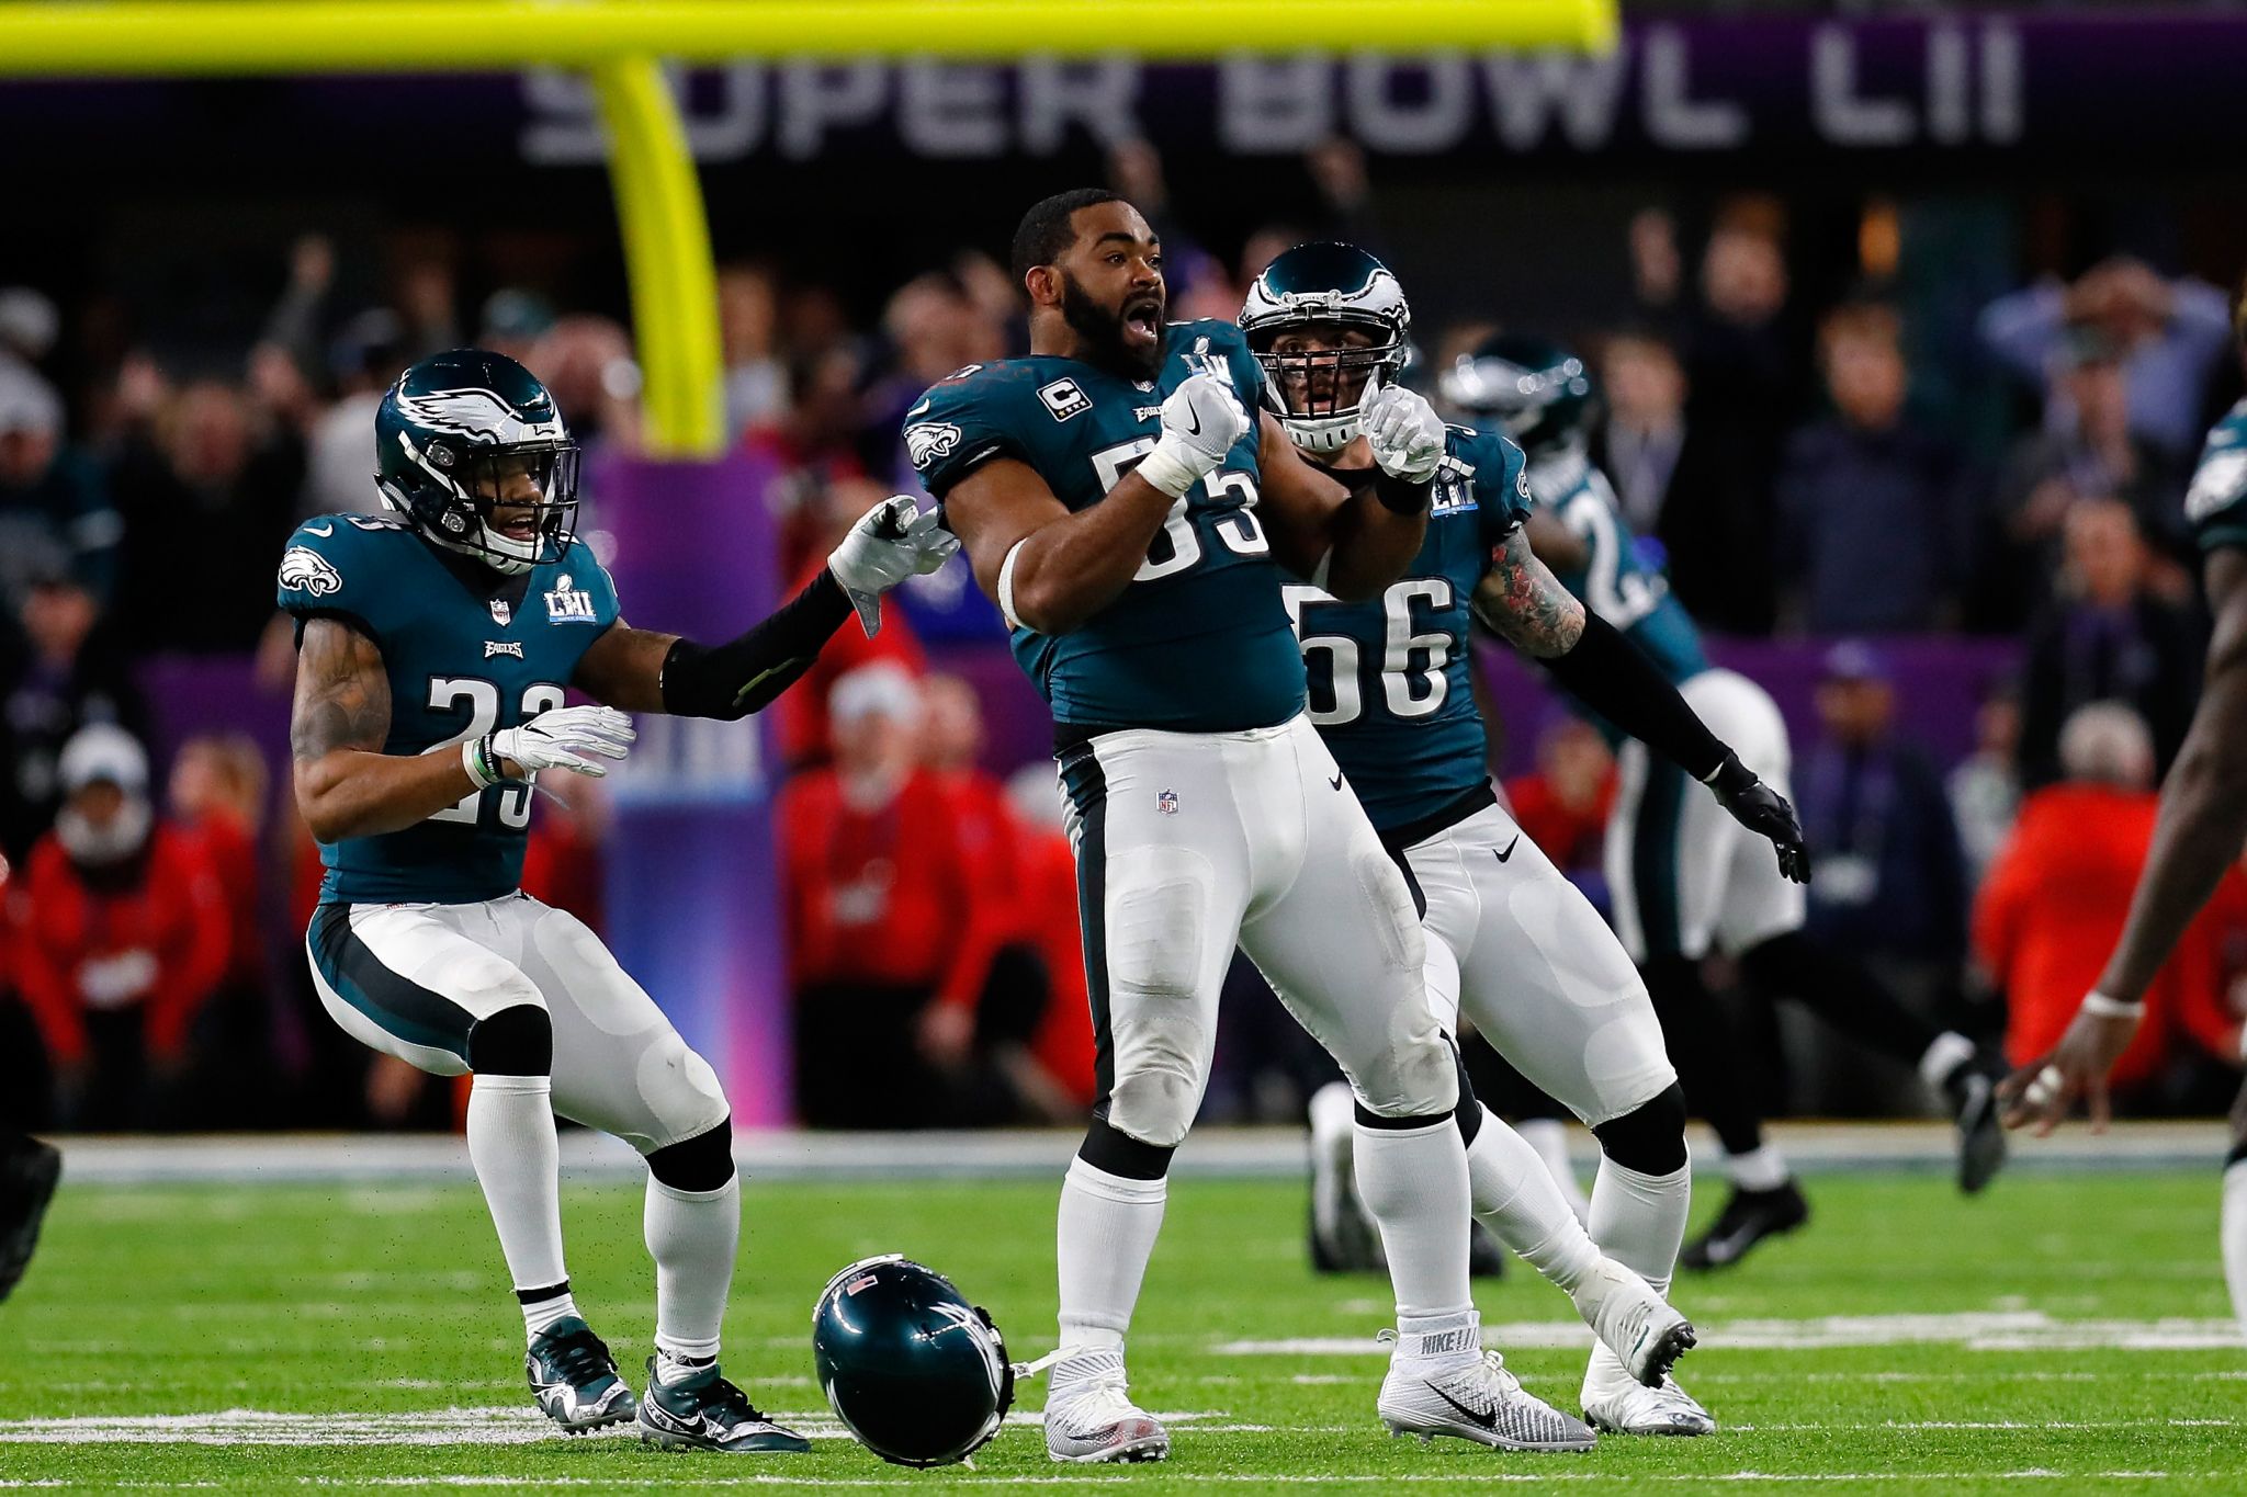
[[[2004,1053],[2016,1066],[2058,1041],[2121,936],[2153,846],[2153,736],[2130,707],[2078,707],[2060,732],[2065,779],[2022,801],[1989,869],[1973,945],[2004,992]],[[2146,1021],[2112,1071],[2119,1095],[2153,1086],[2180,1035],[2220,1028],[2209,999],[2222,988],[2227,907],[2202,911],[2155,979]]]

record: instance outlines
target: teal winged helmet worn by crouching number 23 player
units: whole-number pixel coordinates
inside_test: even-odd
[[[438,545],[521,575],[571,548],[577,444],[537,375],[456,348],[402,373],[375,408],[375,487]]]

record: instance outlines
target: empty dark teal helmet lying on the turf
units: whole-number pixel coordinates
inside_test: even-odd
[[[897,1252],[827,1282],[811,1311],[811,1358],[836,1418],[894,1466],[964,1461],[1013,1405],[991,1315]]]

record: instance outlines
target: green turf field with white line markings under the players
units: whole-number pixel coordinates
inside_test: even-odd
[[[975,1470],[908,1472],[827,1418],[811,1299],[845,1261],[906,1250],[989,1304],[1016,1358],[1036,1356],[1052,1344],[1049,1183],[750,1183],[726,1367],[825,1436],[766,1461],[546,1434],[472,1187],[65,1185],[0,1306],[0,1488],[2247,1493],[2247,1353],[2216,1190],[2213,1169],[2013,1174],[1980,1201],[1928,1174],[1813,1178],[1811,1230],[1681,1286],[1703,1326],[1681,1380],[1723,1434],[1512,1457],[1384,1436],[1386,1286],[1308,1273],[1301,1187],[1182,1181],[1132,1338],[1135,1394],[1175,1416],[1171,1463],[1061,1468],[1036,1430],[1009,1427]],[[640,1194],[573,1190],[564,1214],[577,1302],[638,1380],[654,1315]],[[1573,1409],[1584,1353],[1566,1302],[1517,1268],[1481,1306],[1523,1380]],[[1029,1385],[1022,1405],[1040,1400]]]

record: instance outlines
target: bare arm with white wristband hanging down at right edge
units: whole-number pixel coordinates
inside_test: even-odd
[[[2247,729],[2247,550],[2213,552],[2204,581],[2216,631],[2200,707],[2162,786],[2130,918],[2060,1044],[2000,1086],[2009,1127],[2034,1122],[2049,1133],[2076,1098],[2087,1102],[2094,1129],[2108,1124],[2105,1077],[2137,1035],[2146,988],[2247,844],[2247,754],[2238,743]]]

